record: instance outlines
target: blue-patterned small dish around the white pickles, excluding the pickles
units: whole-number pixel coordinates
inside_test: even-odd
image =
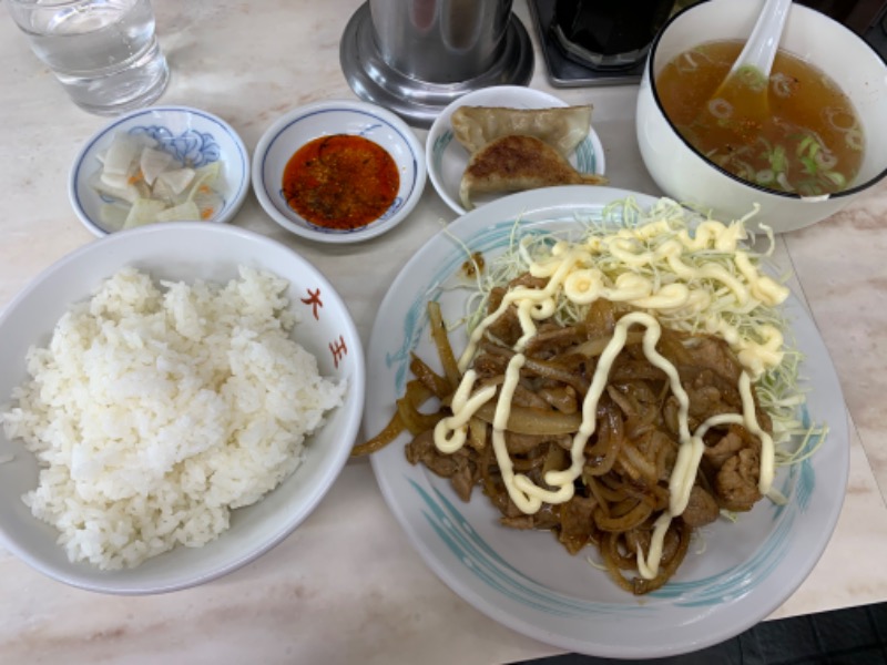
[[[90,185],[102,167],[100,155],[119,133],[144,136],[146,143],[173,155],[175,162],[200,167],[222,162],[222,184],[217,187],[224,200],[211,222],[227,223],[239,211],[249,193],[249,153],[237,132],[224,120],[188,106],[150,106],[114,119],[86,141],[77,155],[68,183],[68,194],[74,213],[96,236],[116,229],[101,222],[100,209],[108,203]]]

